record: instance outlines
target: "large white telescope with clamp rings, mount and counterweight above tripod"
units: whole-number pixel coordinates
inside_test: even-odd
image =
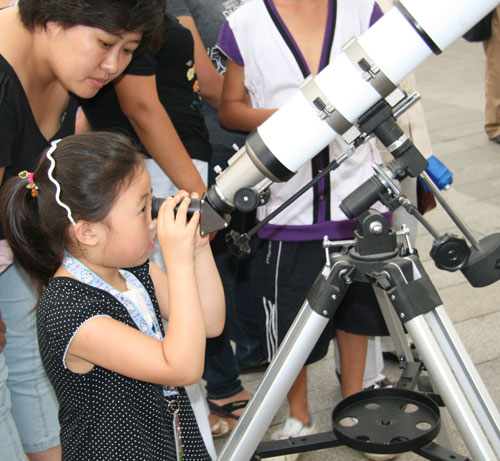
[[[201,200],[201,233],[227,228],[235,209],[255,209],[273,182],[288,181],[337,136],[353,151],[366,138],[377,136],[395,158],[396,163],[382,171],[389,181],[425,177],[427,161],[393,123],[391,110],[406,97],[397,84],[497,4],[498,0],[396,0],[389,12],[346,43],[339,56],[308,77],[283,107],[249,134]],[[386,181],[379,178],[377,174],[346,198],[341,209],[349,218],[368,201],[381,198]],[[477,241],[463,227],[464,235],[471,237],[471,251],[467,263],[456,267],[473,286],[493,283],[500,278],[499,236]]]

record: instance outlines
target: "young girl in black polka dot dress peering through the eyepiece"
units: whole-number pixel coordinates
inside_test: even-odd
[[[63,459],[210,459],[182,386],[201,379],[206,338],[222,331],[222,285],[187,193],[157,221],[151,201],[128,139],[98,132],[53,142],[1,195],[7,240],[41,293]],[[148,261],[156,231],[168,276]]]

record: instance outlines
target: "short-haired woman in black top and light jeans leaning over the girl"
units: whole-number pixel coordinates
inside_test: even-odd
[[[163,0],[19,0],[0,11],[0,187],[33,171],[51,140],[74,133],[75,95],[92,97],[117,77],[161,31],[164,8]],[[52,461],[58,408],[38,352],[36,299],[4,239],[0,223],[2,458]]]

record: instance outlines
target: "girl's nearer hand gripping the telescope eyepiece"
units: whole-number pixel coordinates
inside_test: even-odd
[[[193,194],[195,195],[195,194]],[[195,212],[188,219],[189,197],[186,191],[179,191],[162,204],[158,213],[157,233],[165,264],[194,261],[195,248],[199,238],[200,213]],[[177,207],[177,211],[175,208]]]

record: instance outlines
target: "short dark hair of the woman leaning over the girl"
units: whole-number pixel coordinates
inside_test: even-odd
[[[111,34],[143,31],[141,46],[155,48],[161,41],[165,0],[19,0],[24,26],[34,30],[49,21],[63,27],[89,26]]]

